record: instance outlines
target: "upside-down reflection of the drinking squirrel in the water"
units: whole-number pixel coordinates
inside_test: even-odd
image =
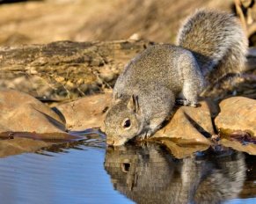
[[[157,144],[106,149],[114,189],[136,203],[221,203],[245,181],[242,153],[175,159]]]

